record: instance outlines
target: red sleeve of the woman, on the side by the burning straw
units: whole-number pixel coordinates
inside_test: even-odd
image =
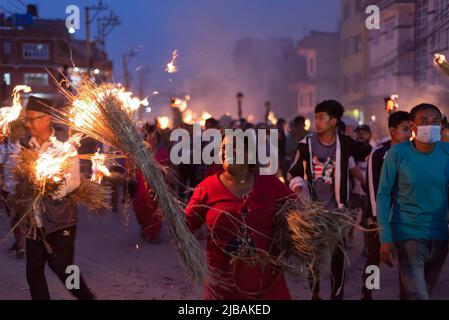
[[[195,188],[186,208],[186,222],[191,232],[198,230],[206,220],[207,193],[201,184]]]

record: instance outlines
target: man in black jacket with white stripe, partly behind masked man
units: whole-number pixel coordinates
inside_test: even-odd
[[[376,195],[379,187],[380,172],[382,164],[388,150],[398,144],[410,140],[412,129],[410,123],[410,114],[405,111],[397,111],[388,118],[388,128],[390,130],[391,140],[385,142],[368,158],[368,170],[366,172],[366,181],[368,188],[369,203],[366,215],[362,218],[362,224],[367,229],[377,229],[376,219]],[[362,300],[372,300],[372,290],[366,287],[366,279],[369,273],[366,273],[368,266],[379,266],[380,262],[380,241],[379,231],[365,232],[368,246],[368,258],[362,275]],[[402,289],[402,288],[401,288]],[[402,290],[401,290],[402,292]]]

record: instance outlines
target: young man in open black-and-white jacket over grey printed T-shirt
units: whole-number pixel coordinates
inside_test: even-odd
[[[312,200],[325,203],[330,209],[348,206],[349,158],[362,161],[371,152],[369,144],[337,132],[343,113],[343,106],[335,100],[323,101],[315,107],[317,132],[307,135],[298,144],[288,174],[293,191],[304,193],[310,190]],[[331,299],[341,300],[345,278],[345,255],[341,249],[335,250],[331,264]],[[312,299],[320,299],[319,275],[311,277],[310,285]]]

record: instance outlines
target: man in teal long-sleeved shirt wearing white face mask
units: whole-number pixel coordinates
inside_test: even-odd
[[[381,260],[397,260],[407,299],[429,299],[448,252],[449,144],[440,142],[441,112],[410,111],[413,141],[390,149],[377,193]]]

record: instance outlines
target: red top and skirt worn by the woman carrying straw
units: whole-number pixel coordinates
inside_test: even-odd
[[[232,260],[230,255],[238,250],[243,238],[246,247],[276,257],[272,239],[274,217],[278,205],[289,197],[294,197],[293,193],[274,176],[256,174],[254,188],[245,199],[229,191],[219,174],[197,186],[186,217],[192,231],[203,222],[210,231],[206,248],[206,299],[290,299],[283,274],[271,264],[248,265]],[[242,216],[246,216],[245,223]]]

